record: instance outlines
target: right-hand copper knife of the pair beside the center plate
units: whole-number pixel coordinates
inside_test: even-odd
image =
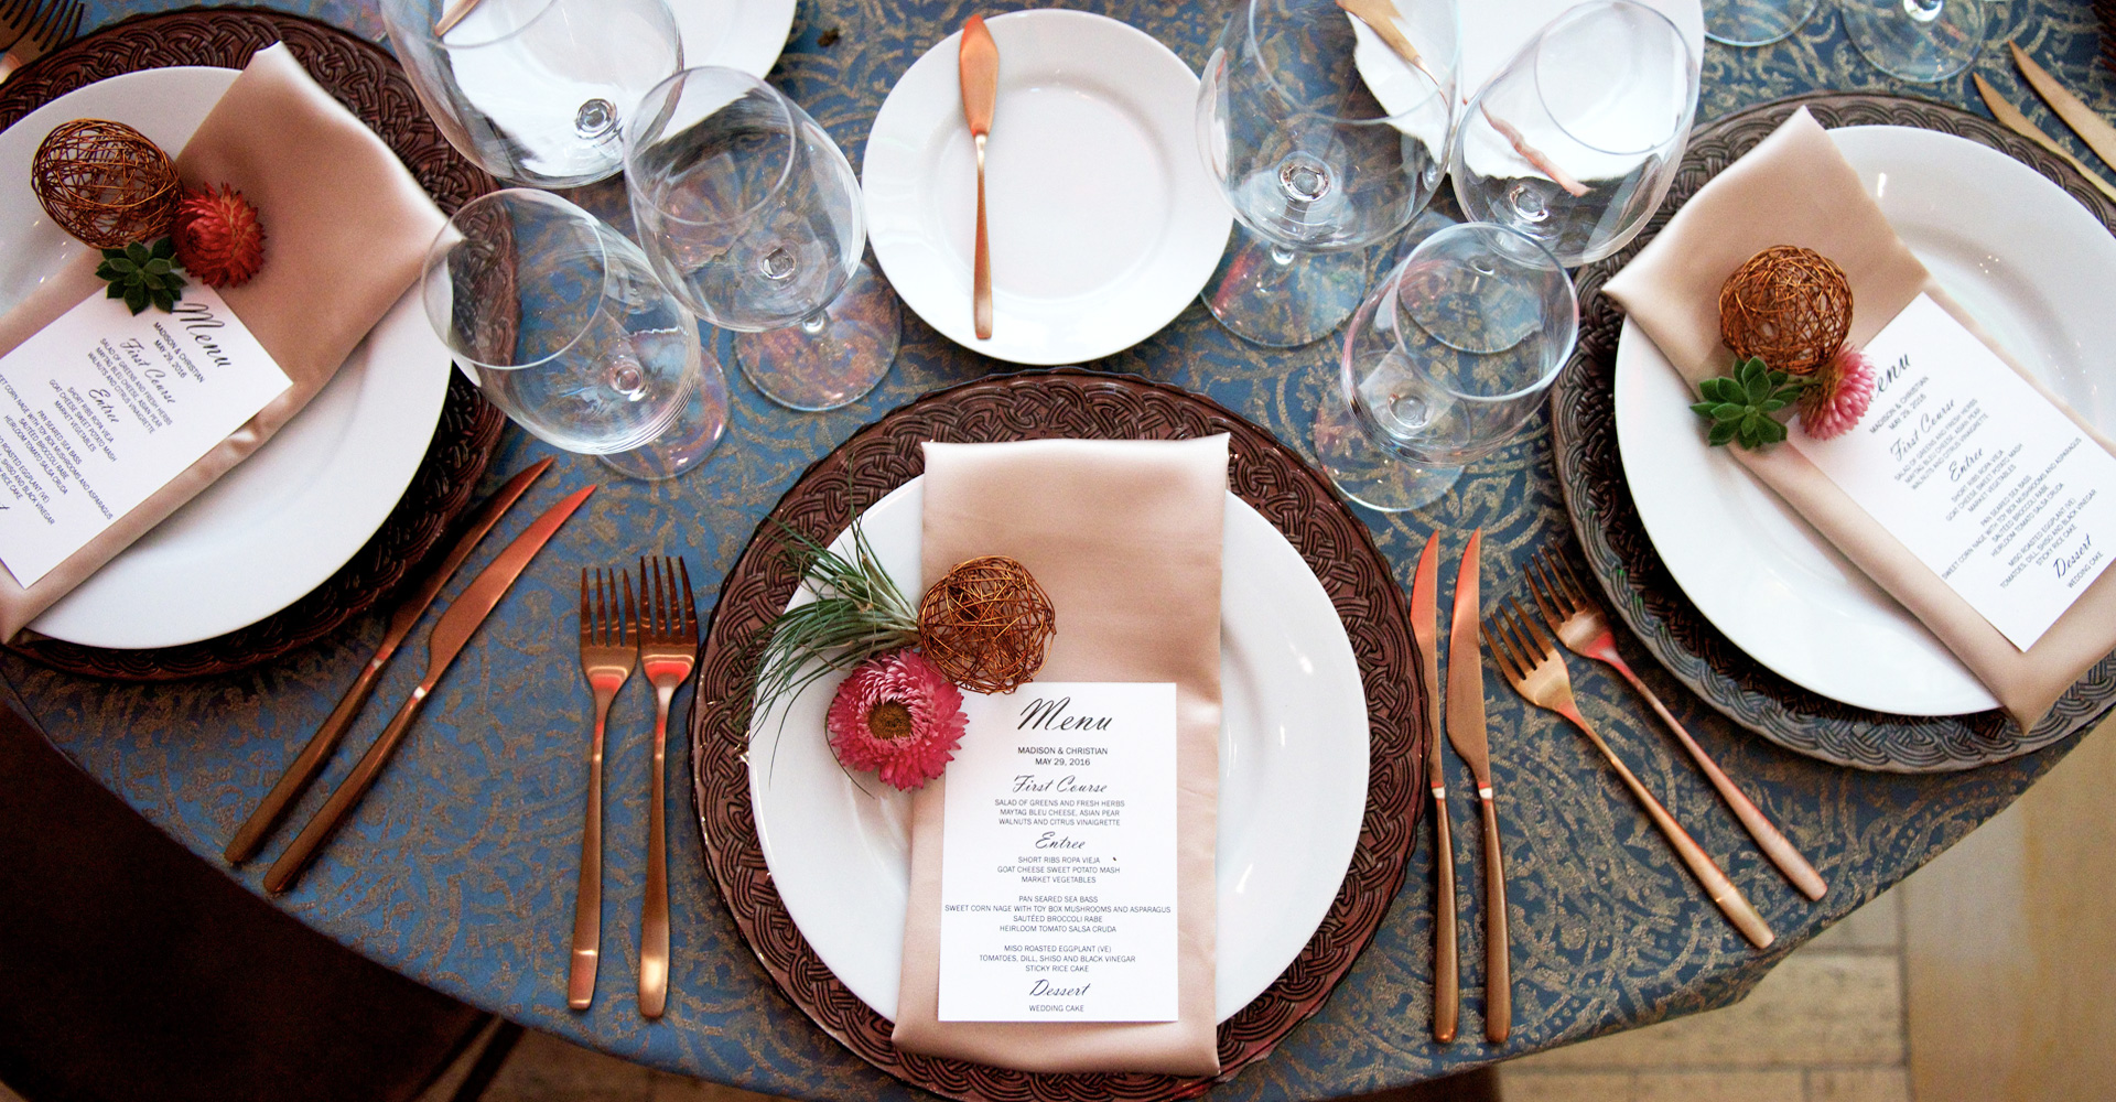
[[[1447,742],[1477,778],[1483,808],[1483,1036],[1504,1045],[1513,1032],[1513,969],[1507,945],[1507,863],[1492,804],[1492,753],[1483,732],[1483,637],[1477,630],[1477,561],[1483,529],[1469,533],[1456,571],[1454,630],[1447,632]]]

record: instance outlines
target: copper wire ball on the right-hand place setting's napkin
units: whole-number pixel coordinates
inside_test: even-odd
[[[1828,256],[1771,245],[1720,286],[1720,341],[1741,360],[1813,374],[1852,332],[1852,281]]]

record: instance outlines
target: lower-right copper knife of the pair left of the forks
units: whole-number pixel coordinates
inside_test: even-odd
[[[508,544],[508,550],[499,552],[499,558],[493,558],[493,563],[478,573],[461,596],[449,603],[449,611],[440,613],[440,622],[434,624],[434,632],[425,639],[427,664],[419,687],[411,690],[411,698],[406,698],[404,706],[398,709],[394,719],[389,719],[383,734],[375,738],[375,745],[368,747],[368,753],[358,766],[353,766],[353,772],[339,783],[339,789],[330,793],[330,800],[326,800],[324,808],[315,812],[315,819],[309,819],[309,825],[300,829],[294,844],[279,855],[279,861],[273,861],[269,871],[264,871],[264,890],[273,895],[284,893],[294,878],[300,876],[300,869],[309,867],[315,852],[324,848],[324,842],[328,842],[332,833],[336,833],[339,825],[345,823],[345,816],[355,804],[360,804],[360,797],[366,795],[370,785],[375,785],[375,776],[381,774],[385,764],[389,764],[389,755],[396,753],[398,742],[404,740],[404,732],[411,730],[411,721],[419,715],[419,704],[434,692],[434,685],[440,683],[440,675],[446,673],[449,664],[455,662],[455,656],[463,651],[463,645],[470,643],[478,624],[485,624],[485,618],[499,607],[499,599],[508,594],[508,588],[512,588],[514,580],[529,567],[535,552],[544,550],[544,544],[559,531],[561,525],[565,525],[569,516],[573,516],[573,510],[578,510],[590,493],[595,493],[595,486],[582,486],[565,495],[565,499],[546,510],[544,516],[537,516],[527,531]]]

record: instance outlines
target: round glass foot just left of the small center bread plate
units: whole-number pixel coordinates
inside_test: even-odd
[[[834,410],[889,374],[901,332],[897,292],[861,260],[838,298],[808,322],[736,334],[734,360],[764,398],[789,410]]]

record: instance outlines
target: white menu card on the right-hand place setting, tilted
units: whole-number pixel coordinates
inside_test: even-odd
[[[1864,351],[1864,421],[1792,446],[2025,651],[2110,565],[2116,457],[1926,294]]]

